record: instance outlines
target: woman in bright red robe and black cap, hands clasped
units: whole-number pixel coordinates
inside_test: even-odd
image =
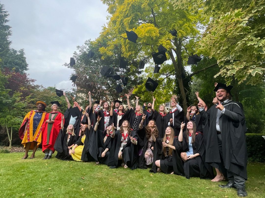
[[[45,122],[42,125],[42,152],[45,153],[43,159],[51,159],[54,153],[54,144],[61,129],[61,119],[63,114],[58,111],[60,103],[51,102],[52,112],[46,114]]]

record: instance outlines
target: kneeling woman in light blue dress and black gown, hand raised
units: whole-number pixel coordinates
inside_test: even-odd
[[[187,123],[187,130],[183,134],[185,124],[180,125],[179,141],[182,142],[183,151],[180,156],[184,161],[185,177],[200,177],[201,179],[212,179],[213,168],[205,163],[205,147],[203,135],[196,132],[196,124],[193,121]]]

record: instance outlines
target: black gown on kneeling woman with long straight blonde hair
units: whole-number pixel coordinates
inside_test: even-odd
[[[156,139],[156,142],[154,142],[154,152],[153,152],[154,159],[153,159],[153,165],[152,165],[152,168],[150,169],[150,172],[156,173],[157,168],[158,168],[155,164],[156,160],[165,160],[166,158],[171,158],[171,156],[169,157],[164,156],[163,150],[162,150],[162,141],[163,139],[160,138],[160,139]],[[180,153],[182,152],[182,144],[181,142],[179,142],[177,137],[174,137],[173,146],[175,146],[176,148],[176,150],[173,150],[172,152],[173,168],[167,167],[167,165],[165,165],[163,169],[168,170],[168,171],[165,171],[168,173],[170,172],[169,170],[173,169],[174,174],[184,176],[183,161],[180,157]],[[160,161],[160,165],[162,165],[161,161]]]

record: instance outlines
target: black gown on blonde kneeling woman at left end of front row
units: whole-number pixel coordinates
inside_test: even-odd
[[[76,136],[70,136],[68,145],[67,145],[67,138],[68,134],[66,134],[66,128],[63,130],[60,130],[55,144],[54,149],[57,151],[57,155],[55,156],[57,159],[61,160],[70,160],[72,157],[69,155],[69,149],[68,146],[71,146],[72,144],[75,144],[76,142]]]

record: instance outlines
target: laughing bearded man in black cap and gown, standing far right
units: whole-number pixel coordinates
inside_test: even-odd
[[[221,188],[237,188],[237,195],[245,197],[247,179],[246,124],[242,104],[229,100],[232,86],[218,83],[214,91],[219,102],[207,112],[199,103],[200,114],[209,121],[205,161],[227,172],[228,183]]]

